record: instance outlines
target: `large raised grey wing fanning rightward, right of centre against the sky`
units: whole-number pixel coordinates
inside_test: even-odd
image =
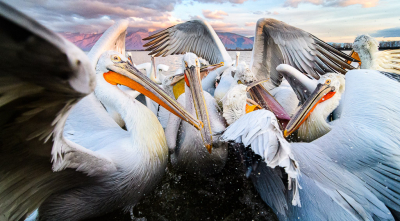
[[[306,31],[275,19],[257,21],[250,66],[258,79],[271,79],[267,89],[282,81],[276,71],[279,64],[289,64],[319,79],[327,72],[345,74],[346,69],[353,69],[344,59],[354,61]]]

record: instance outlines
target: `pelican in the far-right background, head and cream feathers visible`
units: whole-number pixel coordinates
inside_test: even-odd
[[[362,69],[400,74],[400,49],[379,51],[379,42],[369,36],[354,39],[353,50],[361,60]]]

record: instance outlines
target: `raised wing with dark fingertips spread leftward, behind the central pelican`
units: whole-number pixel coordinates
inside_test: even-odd
[[[214,29],[203,20],[181,23],[143,40],[151,40],[143,46],[156,57],[192,52],[212,64],[232,62]]]

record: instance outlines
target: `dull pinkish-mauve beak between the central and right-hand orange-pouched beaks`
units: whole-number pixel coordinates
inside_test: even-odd
[[[263,82],[265,82],[265,80],[251,83],[247,87],[247,91],[249,91],[251,98],[260,104],[261,107],[275,114],[279,126],[283,130],[290,121],[290,116],[286,113],[285,109],[283,109],[279,102],[275,100],[274,96],[272,96],[264,86],[262,86],[261,83]]]

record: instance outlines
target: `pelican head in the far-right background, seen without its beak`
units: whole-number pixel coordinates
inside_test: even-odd
[[[354,39],[353,50],[361,60],[362,69],[373,68],[375,53],[379,51],[379,42],[369,35],[359,35]]]

